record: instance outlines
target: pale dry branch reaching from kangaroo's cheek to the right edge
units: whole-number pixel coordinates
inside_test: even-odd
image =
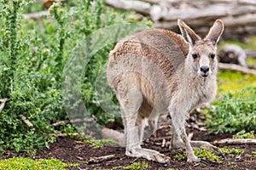
[[[234,65],[234,64],[224,64],[224,63],[218,63],[218,68],[219,69],[228,69],[231,71],[241,71],[246,74],[251,74],[256,76],[256,71],[252,69],[248,69],[246,67],[243,67],[241,65]]]

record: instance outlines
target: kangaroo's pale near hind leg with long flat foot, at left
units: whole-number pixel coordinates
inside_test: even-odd
[[[124,86],[122,86],[124,87]],[[127,86],[125,86],[127,88]],[[129,85],[128,85],[129,87]],[[125,95],[118,95],[122,118],[125,125],[125,141],[126,141],[126,156],[132,157],[142,157],[148,161],[158,161],[160,163],[170,163],[170,158],[160,154],[160,152],[155,150],[148,150],[141,148],[142,132],[141,128],[143,125],[138,121],[139,108],[142,104],[143,97],[141,92],[137,88],[128,88]],[[118,92],[119,94],[119,92]]]

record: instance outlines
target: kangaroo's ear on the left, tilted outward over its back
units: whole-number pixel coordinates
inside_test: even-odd
[[[177,20],[177,26],[179,27],[185,41],[189,42],[191,46],[195,44],[195,41],[201,40],[201,37],[195,34],[195,31],[189,28],[189,26],[187,26],[182,20]]]

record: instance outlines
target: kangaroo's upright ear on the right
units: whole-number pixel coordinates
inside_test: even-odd
[[[210,40],[214,45],[216,45],[223,31],[224,31],[223,21],[215,20],[212,28],[208,32],[207,37],[205,37],[205,39]]]

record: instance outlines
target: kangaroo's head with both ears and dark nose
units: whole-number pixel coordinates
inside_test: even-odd
[[[217,69],[217,42],[224,31],[222,20],[216,20],[203,39],[182,20],[177,20],[177,24],[184,40],[189,43],[187,59],[191,69],[202,77],[208,77]]]

